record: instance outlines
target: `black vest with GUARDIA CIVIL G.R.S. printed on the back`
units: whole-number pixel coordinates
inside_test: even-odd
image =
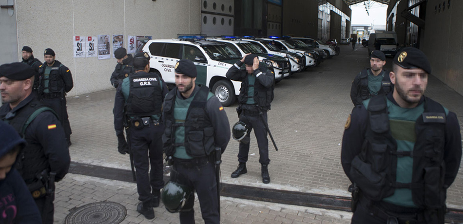
[[[158,75],[138,72],[129,75],[127,115],[152,116],[161,114],[162,91]]]

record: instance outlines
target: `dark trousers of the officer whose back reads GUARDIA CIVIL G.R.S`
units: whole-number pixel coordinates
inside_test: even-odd
[[[129,144],[134,156],[138,200],[141,202],[150,201],[152,190],[164,187],[161,139],[163,132],[162,124],[154,126],[151,123],[140,130],[130,128]]]

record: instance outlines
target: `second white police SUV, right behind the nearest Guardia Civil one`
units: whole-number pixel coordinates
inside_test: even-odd
[[[251,44],[245,40],[241,40],[239,37],[222,36],[208,39],[227,44],[228,47],[233,49],[233,51],[236,53],[241,54],[241,56],[245,56],[246,54],[257,55],[260,61],[265,62],[266,64],[271,64],[273,67],[273,72],[275,73],[275,82],[279,82],[284,77],[288,77],[291,74],[289,70],[289,61],[286,57],[266,54],[257,48],[254,44]]]

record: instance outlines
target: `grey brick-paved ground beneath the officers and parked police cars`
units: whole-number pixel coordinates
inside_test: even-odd
[[[340,163],[340,144],[347,115],[352,109],[351,81],[363,67],[369,66],[367,49],[356,46],[352,51],[350,46],[341,45],[339,56],[276,85],[272,110],[268,113],[270,130],[279,148],[279,151],[270,148],[271,183],[261,182],[253,135],[248,173],[236,179],[231,179],[230,174],[238,164],[238,143],[231,140],[222,158],[224,183],[350,196],[346,190],[349,181]],[[387,59],[386,68],[390,69],[391,60]],[[429,78],[425,94],[456,112],[459,120],[463,120],[462,95],[433,76]],[[130,169],[128,156],[117,152],[112,113],[114,95],[115,90],[108,90],[68,98],[69,119],[74,132],[70,147],[73,161]],[[238,120],[236,106],[225,109],[231,124]],[[135,211],[135,184],[69,174],[58,183],[57,192],[55,223],[63,223],[69,209],[97,201],[125,205],[128,216],[124,223],[148,223]],[[447,195],[448,206],[463,208],[462,168]],[[351,216],[347,212],[233,198],[222,198],[221,207],[223,223],[349,223]],[[203,223],[197,207],[196,211],[197,223]],[[155,214],[154,223],[178,223],[178,214],[171,214],[164,207],[156,208]]]

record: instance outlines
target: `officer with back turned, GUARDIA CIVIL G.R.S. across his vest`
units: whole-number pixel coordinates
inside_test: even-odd
[[[129,120],[129,144],[136,170],[138,200],[141,201],[136,210],[147,219],[154,219],[153,207],[159,206],[159,191],[164,186],[161,138],[164,125],[159,118],[164,96],[169,91],[161,77],[149,73],[149,59],[144,52],[135,55],[135,73],[129,74],[117,87],[113,112],[118,149],[122,154],[128,152],[121,145],[127,145],[123,130],[124,119]]]

